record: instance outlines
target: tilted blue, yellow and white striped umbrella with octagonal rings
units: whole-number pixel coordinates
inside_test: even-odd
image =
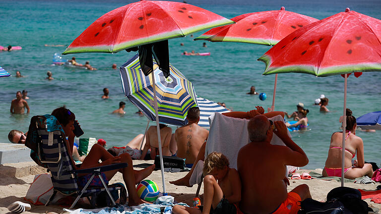
[[[192,83],[170,64],[170,75],[165,78],[154,60],[156,96],[159,122],[182,126],[187,124],[188,109],[197,106]],[[145,76],[140,69],[138,54],[120,68],[123,92],[131,103],[138,107],[150,120],[155,119],[152,76]]]

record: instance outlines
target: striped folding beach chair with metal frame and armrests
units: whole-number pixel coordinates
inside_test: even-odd
[[[110,191],[122,191],[122,188],[124,187],[113,185],[107,186],[100,174],[104,171],[126,167],[127,163],[116,163],[75,170],[64,141],[64,130],[60,123],[58,123],[56,117],[49,114],[34,116],[31,119],[31,126],[35,127],[35,129],[32,129],[32,131],[34,130],[33,133],[37,133],[32,139],[34,139],[34,142],[36,143],[35,149],[37,151],[38,161],[40,164],[42,163],[48,168],[53,183],[53,195],[45,206],[54,199],[58,192],[64,196],[76,196],[69,209],[72,209],[78,200],[83,197],[87,197],[91,206],[95,207],[97,197],[101,193],[104,194],[104,192],[106,192],[110,199],[111,205],[116,205]],[[31,129],[31,127],[29,128]],[[80,188],[77,184],[78,174],[91,174],[90,179],[83,188]],[[95,176],[99,177],[101,184],[93,187],[90,186],[90,183]]]

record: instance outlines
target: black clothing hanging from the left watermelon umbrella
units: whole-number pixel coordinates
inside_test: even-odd
[[[166,78],[169,76],[168,40],[142,45],[138,48],[133,47],[126,51],[138,51],[140,68],[144,75],[148,76],[153,71],[153,56],[159,69],[163,71],[163,75]]]

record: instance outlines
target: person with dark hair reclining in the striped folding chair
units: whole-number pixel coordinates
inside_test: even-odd
[[[74,143],[74,120],[75,115],[73,112],[71,112],[69,109],[65,107],[59,107],[53,110],[52,115],[57,118],[57,120],[61,123],[64,133],[66,137],[68,137],[68,140],[66,141],[66,148],[73,148]],[[72,149],[69,150],[69,155],[71,157]],[[72,160],[73,165],[74,160]],[[99,163],[99,160],[102,160],[101,163]],[[150,175],[155,168],[155,164],[142,169],[142,170],[133,170],[132,167],[132,159],[128,154],[122,154],[117,157],[113,157],[110,153],[106,151],[105,148],[103,148],[99,144],[94,144],[91,147],[91,150],[89,154],[86,156],[86,158],[83,160],[82,165],[80,167],[75,166],[76,168],[91,168],[91,167],[97,167],[97,166],[103,166],[103,165],[109,165],[113,163],[120,163],[120,162],[126,162],[128,163],[127,167],[123,169],[116,169],[111,171],[102,172],[101,176],[107,180],[110,180],[114,177],[114,175],[119,171],[123,174],[123,180],[125,181],[127,192],[128,192],[128,206],[135,206],[144,203],[140,198],[137,196],[135,184],[139,183],[141,180],[146,178],[148,175]],[[91,174],[82,176],[85,178],[86,182],[91,177]]]

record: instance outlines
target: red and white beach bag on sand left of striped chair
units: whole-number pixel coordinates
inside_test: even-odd
[[[34,176],[30,184],[25,200],[34,205],[45,205],[53,194],[53,183],[50,174],[43,173]]]

